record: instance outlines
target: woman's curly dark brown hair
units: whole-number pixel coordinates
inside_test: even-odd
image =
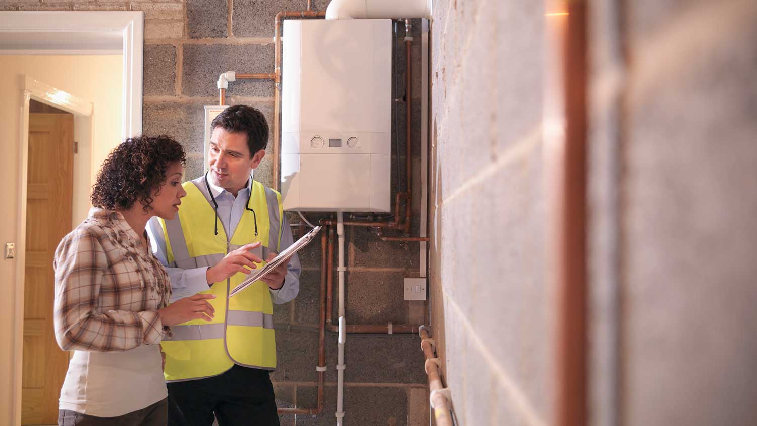
[[[151,193],[166,180],[170,163],[185,164],[179,142],[167,135],[136,136],[118,145],[102,163],[92,187],[92,205],[107,210],[129,210],[136,201],[151,210]]]

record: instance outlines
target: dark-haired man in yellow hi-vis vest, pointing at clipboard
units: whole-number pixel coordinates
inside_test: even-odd
[[[210,126],[208,171],[184,183],[187,195],[172,220],[151,220],[155,256],[166,266],[172,300],[196,293],[212,318],[171,327],[166,353],[171,425],[279,424],[269,373],[276,368],[273,304],[300,289],[295,254],[261,281],[229,291],[293,244],[281,194],[251,178],[268,145],[263,113],[236,105]]]

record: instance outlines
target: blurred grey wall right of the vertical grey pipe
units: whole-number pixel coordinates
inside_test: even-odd
[[[628,3],[623,424],[757,423],[757,3]]]

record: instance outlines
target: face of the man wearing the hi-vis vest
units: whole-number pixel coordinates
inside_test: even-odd
[[[251,169],[260,165],[260,160],[263,160],[265,155],[266,151],[263,150],[250,153],[246,133],[230,133],[216,127],[210,135],[208,175],[213,185],[224,188],[236,196],[237,191],[245,187]]]

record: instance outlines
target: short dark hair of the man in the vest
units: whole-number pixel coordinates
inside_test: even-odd
[[[268,123],[260,110],[248,105],[234,105],[223,110],[213,122],[210,123],[210,132],[216,127],[229,133],[244,132],[247,134],[247,146],[250,148],[250,157],[257,151],[266,149],[268,146]]]

